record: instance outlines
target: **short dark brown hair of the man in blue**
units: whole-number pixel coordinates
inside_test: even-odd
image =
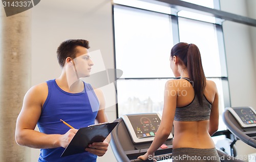
[[[69,39],[63,41],[57,48],[57,59],[59,65],[64,67],[65,61],[67,57],[72,59],[76,58],[77,50],[75,49],[77,46],[82,46],[87,49],[90,48],[89,41],[84,39]]]

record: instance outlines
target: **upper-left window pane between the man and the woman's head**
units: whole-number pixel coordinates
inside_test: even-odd
[[[114,8],[116,68],[122,78],[170,77],[173,45],[167,14],[116,6]]]

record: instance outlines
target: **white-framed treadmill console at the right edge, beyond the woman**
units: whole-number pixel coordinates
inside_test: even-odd
[[[256,112],[252,107],[227,107],[242,127],[256,126]]]

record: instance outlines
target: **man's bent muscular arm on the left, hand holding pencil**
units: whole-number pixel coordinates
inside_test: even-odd
[[[66,134],[45,134],[35,129],[41,115],[41,107],[48,94],[46,83],[32,87],[24,97],[22,111],[18,115],[15,140],[17,144],[31,148],[67,147],[76,129]]]

